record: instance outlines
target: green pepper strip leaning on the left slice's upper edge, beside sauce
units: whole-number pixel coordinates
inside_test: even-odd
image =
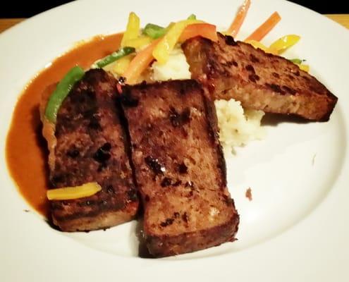
[[[85,75],[85,71],[80,66],[71,68],[70,71],[59,82],[56,90],[49,97],[45,109],[45,117],[51,123],[56,123],[59,108],[64,99],[68,96],[75,82],[78,82]]]

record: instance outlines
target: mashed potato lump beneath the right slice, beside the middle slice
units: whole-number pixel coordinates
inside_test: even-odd
[[[219,140],[224,152],[234,152],[233,147],[244,146],[252,140],[261,140],[265,130],[261,126],[264,111],[243,109],[240,102],[231,99],[214,102],[219,125]]]

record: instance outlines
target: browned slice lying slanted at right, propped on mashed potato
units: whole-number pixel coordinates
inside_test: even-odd
[[[234,98],[250,109],[328,121],[337,97],[294,63],[219,34],[219,41],[195,37],[183,51],[192,78],[214,99]]]

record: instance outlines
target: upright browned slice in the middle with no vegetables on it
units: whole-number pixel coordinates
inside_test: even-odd
[[[239,216],[226,188],[214,105],[198,82],[128,86],[121,104],[149,252],[163,257],[233,241]]]

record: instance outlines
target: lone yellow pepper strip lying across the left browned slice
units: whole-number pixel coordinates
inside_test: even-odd
[[[102,190],[102,187],[96,182],[85,183],[80,186],[57,188],[47,190],[47,199],[49,200],[74,200],[84,197],[90,197]]]

